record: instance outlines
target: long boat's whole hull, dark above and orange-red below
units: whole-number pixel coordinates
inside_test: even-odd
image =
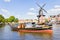
[[[51,33],[52,27],[50,27],[50,28],[14,28],[14,27],[12,27],[12,30],[13,31],[19,31],[19,32]]]

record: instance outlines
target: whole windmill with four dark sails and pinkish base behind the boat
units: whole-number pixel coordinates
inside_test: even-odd
[[[45,23],[45,18],[44,18],[44,14],[43,14],[43,11],[47,13],[47,11],[45,9],[43,9],[43,7],[45,6],[45,4],[41,7],[39,4],[37,4],[40,9],[39,9],[39,14],[38,14],[38,24],[43,24]]]

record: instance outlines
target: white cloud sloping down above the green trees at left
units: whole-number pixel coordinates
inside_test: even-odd
[[[10,12],[8,9],[4,9],[4,8],[1,8],[0,9],[0,14],[3,15],[5,18],[8,18],[10,16],[15,16],[16,18],[19,18],[20,19],[20,16],[21,15],[15,15],[15,13],[13,12]]]

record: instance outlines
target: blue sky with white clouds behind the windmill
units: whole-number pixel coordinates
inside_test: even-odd
[[[60,13],[60,0],[0,0],[0,14],[5,18],[15,16],[19,19],[37,19],[40,6],[46,4],[43,13],[46,17]]]

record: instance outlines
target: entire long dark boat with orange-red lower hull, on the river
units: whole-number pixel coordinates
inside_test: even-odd
[[[27,27],[28,26],[28,27]],[[19,32],[44,32],[44,33],[50,33],[52,32],[52,27],[48,25],[39,25],[35,24],[33,25],[32,23],[22,23],[19,26],[18,25],[10,25],[11,29],[13,31],[19,31]]]

